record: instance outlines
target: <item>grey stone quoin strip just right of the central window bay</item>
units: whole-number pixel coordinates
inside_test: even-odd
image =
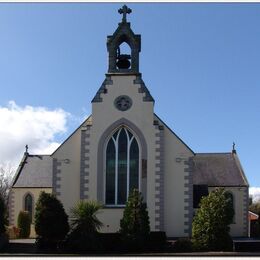
[[[164,231],[164,131],[155,127],[155,230]]]

